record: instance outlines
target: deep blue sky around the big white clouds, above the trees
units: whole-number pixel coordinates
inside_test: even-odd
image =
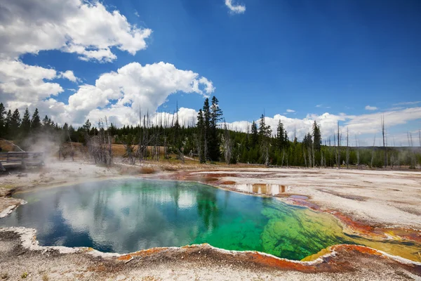
[[[98,7],[95,2],[91,4]],[[13,5],[7,5],[9,11],[18,13],[18,10],[13,10]],[[179,107],[199,110],[203,96],[215,95],[227,122],[242,128],[242,121],[258,119],[264,110],[265,115],[273,119],[268,120],[269,123],[275,124],[275,116],[280,115],[282,118],[278,119],[289,124],[289,128],[297,127],[300,122],[302,133],[308,129],[309,119],[321,119],[322,124],[327,119],[326,136],[333,130],[332,124],[340,121],[344,128],[352,126],[356,116],[362,116],[359,118],[361,122],[369,122],[379,114],[385,114],[387,122],[388,118],[396,119],[395,122],[389,121],[389,133],[396,134],[396,138],[406,131],[415,133],[421,127],[421,103],[416,103],[421,100],[421,1],[232,1],[232,5],[245,8],[243,13],[230,11],[225,0],[102,1],[100,5],[108,13],[117,11],[126,17],[131,27],[150,30],[151,34],[144,38],[147,46],[138,46],[129,52],[119,49],[118,44],[109,44],[116,58],[107,62],[99,62],[88,55],[81,60],[82,51],[69,51],[60,44],[41,46],[39,41],[34,43],[36,51],[15,54],[0,49],[4,60],[57,72],[53,79],[44,78],[42,81],[59,84],[62,91],[52,91],[52,96],[40,99],[42,102],[53,97],[57,103],[63,103],[64,108],[74,91],[79,91],[83,84],[95,85],[102,74],[116,72],[133,62],[140,65],[163,62],[174,65],[177,70],[191,70],[198,74],[197,79],[206,77],[214,89],[182,93],[180,89],[185,88],[176,87],[174,92],[177,93],[163,94],[167,101],[157,103],[156,108],[148,107],[151,111],[173,112],[176,101]],[[39,20],[36,8],[27,11],[34,21]],[[76,18],[81,13],[74,9],[72,16]],[[48,20],[62,25],[57,18]],[[0,25],[8,27],[15,23],[12,20],[1,22],[0,17]],[[68,26],[69,22],[65,25]],[[100,27],[99,30],[104,31],[102,37],[109,34],[107,28],[114,27],[112,24]],[[103,48],[91,46],[89,38],[86,39],[97,37],[96,32],[66,32],[67,37],[73,37],[75,42],[79,40],[78,46],[84,46],[85,51]],[[121,40],[119,44],[123,48],[133,45],[133,42]],[[66,70],[71,70],[81,80],[75,83],[58,78],[58,73]],[[7,84],[10,80],[6,77],[0,81]],[[121,83],[123,80],[126,81],[121,79]],[[201,84],[202,88],[204,85]],[[37,104],[37,101],[26,105],[17,103],[18,91],[14,94],[7,92],[13,89],[3,89],[2,96],[8,95],[8,99],[2,98],[5,103],[11,101],[10,105],[21,107]],[[89,107],[91,111],[86,107],[80,118],[73,122],[96,117],[100,110],[117,103],[118,98],[107,98],[109,103],[98,102]],[[48,110],[47,106],[42,108]],[[288,109],[291,112],[287,112]],[[57,115],[56,119],[62,122],[74,115],[74,108],[67,110],[66,115],[50,114]],[[97,114],[92,110],[97,110]],[[326,113],[328,115],[321,118]],[[116,117],[114,120],[123,123],[125,120],[130,122],[131,118]],[[363,127],[358,124],[354,129],[367,138],[378,131],[374,128],[361,130]]]

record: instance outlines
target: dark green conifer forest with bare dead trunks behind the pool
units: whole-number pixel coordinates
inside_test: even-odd
[[[36,109],[31,115],[26,109],[22,118],[19,110],[6,111],[0,104],[0,138],[12,140],[22,148],[39,138],[48,138],[55,143],[83,143],[95,162],[109,164],[112,159],[111,143],[124,145],[124,155],[131,164],[145,159],[160,161],[176,157],[182,162],[185,157],[198,159],[200,163],[226,162],[227,164],[248,163],[266,166],[305,167],[415,167],[421,163],[421,151],[408,145],[406,148],[349,146],[349,133],[342,136],[338,124],[333,143],[322,143],[319,124],[314,121],[312,130],[302,140],[288,135],[283,123],[276,128],[266,124],[265,115],[258,122],[252,122],[246,132],[229,129],[223,118],[218,98],[206,98],[197,115],[194,126],[181,126],[178,108],[171,121],[141,115],[136,126],[122,127],[108,124],[100,119],[93,124],[90,120],[75,129],[72,124],[59,126],[48,116],[41,120]],[[383,120],[382,120],[383,122]],[[382,123],[383,139],[385,139]],[[409,139],[409,137],[408,137]],[[30,141],[28,141],[30,140]],[[412,136],[411,136],[412,141]],[[357,140],[356,140],[357,142]],[[411,142],[412,143],[412,142]],[[421,146],[421,134],[420,134]]]

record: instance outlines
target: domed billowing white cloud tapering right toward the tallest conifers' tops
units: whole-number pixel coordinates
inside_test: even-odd
[[[109,106],[103,113],[125,124],[131,123],[131,119],[137,120],[139,110],[156,112],[169,95],[179,91],[208,96],[214,87],[205,77],[191,70],[178,70],[170,63],[144,66],[129,63],[116,72],[102,74],[95,85],[81,85],[79,91],[69,97],[69,107],[83,118],[91,110],[90,116],[102,111],[98,108]]]

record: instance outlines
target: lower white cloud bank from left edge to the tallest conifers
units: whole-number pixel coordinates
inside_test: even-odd
[[[95,85],[81,84],[67,103],[63,103],[53,98],[63,91],[62,87],[44,81],[63,77],[63,73],[67,73],[68,79],[74,77],[73,72],[58,74],[53,69],[19,61],[0,62],[0,102],[21,110],[27,106],[32,110],[39,107],[59,124],[77,125],[86,118],[96,121],[107,116],[114,124],[123,125],[137,123],[139,110],[142,115],[149,112],[154,116],[157,108],[173,93],[209,96],[215,91],[212,81],[192,70],[179,70],[175,65],[162,62],[152,65],[129,63],[116,72],[100,75]],[[182,118],[181,123],[195,118],[196,112],[180,108],[178,115]]]

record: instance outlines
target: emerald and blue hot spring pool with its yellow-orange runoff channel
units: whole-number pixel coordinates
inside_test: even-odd
[[[421,249],[413,242],[375,242],[345,235],[328,214],[199,183],[126,179],[15,197],[28,204],[1,218],[0,226],[35,228],[42,245],[123,254],[206,242],[295,260],[342,243],[366,244],[402,256],[401,250]]]

